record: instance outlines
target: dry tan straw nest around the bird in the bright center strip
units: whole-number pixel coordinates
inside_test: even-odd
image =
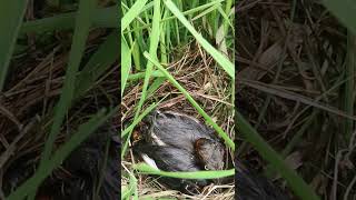
[[[177,54],[180,59],[167,66],[167,70],[175,77],[175,79],[190,93],[190,96],[200,104],[201,108],[219,124],[234,140],[234,109],[231,103],[231,81],[224,70],[218,67],[212,58],[196,43],[189,43],[184,47]],[[157,78],[159,80],[161,78]],[[121,101],[121,121],[129,123],[135,116],[136,107],[141,97],[142,80],[129,82],[128,89]],[[149,84],[152,86],[152,84]],[[168,80],[158,87],[158,89],[150,93],[145,103],[147,108],[152,102],[165,100],[158,106],[161,110],[171,110],[192,116],[201,121],[204,119],[198,114],[195,108],[188,100],[179,92]],[[227,148],[227,157],[225,161],[225,169],[234,168],[234,152]],[[130,150],[130,153],[121,162],[121,173],[128,174],[132,171],[132,164],[139,162]],[[211,186],[198,196],[187,196],[178,191],[169,190],[161,186],[157,180],[149,176],[135,174],[138,182],[139,197],[179,197],[190,199],[233,199],[234,198],[234,180],[229,184]],[[129,179],[126,176],[121,178],[121,184],[128,186]],[[222,190],[221,190],[222,189]]]

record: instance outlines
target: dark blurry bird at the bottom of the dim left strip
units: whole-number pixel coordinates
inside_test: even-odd
[[[49,179],[40,189],[38,198],[51,197],[55,200],[119,199],[119,149],[120,138],[116,131],[100,128],[63,161],[62,169],[70,176]]]

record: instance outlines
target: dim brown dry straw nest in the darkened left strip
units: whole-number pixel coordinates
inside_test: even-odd
[[[109,31],[95,29],[90,32],[82,63],[87,62]],[[71,34],[68,31],[61,33]],[[38,41],[34,37],[28,37],[32,46],[12,60],[6,89],[0,96],[0,110],[4,113],[0,116],[0,182],[1,194],[4,196],[33,174],[50,130],[53,108],[58,102],[68,66],[69,47],[66,42],[70,43],[71,40],[70,37],[68,41],[52,39],[50,43],[42,43],[43,41]],[[91,114],[103,107],[118,104],[118,74],[119,67],[116,62],[82,97],[77,97],[56,139],[55,150]],[[119,113],[108,122],[109,129],[119,130],[118,116]],[[71,177],[73,174],[58,168],[41,187],[52,184],[53,179],[56,186],[60,186],[61,181],[65,182]],[[66,189],[69,188],[63,188]],[[63,191],[58,187],[56,192]]]

